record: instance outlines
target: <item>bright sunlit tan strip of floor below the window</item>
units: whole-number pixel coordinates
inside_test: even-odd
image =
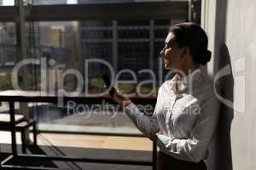
[[[16,134],[16,139],[17,144],[20,144],[20,133]],[[10,133],[0,132],[0,144],[10,143]],[[152,142],[146,138],[84,134],[40,133],[38,144],[97,149],[152,150]]]

